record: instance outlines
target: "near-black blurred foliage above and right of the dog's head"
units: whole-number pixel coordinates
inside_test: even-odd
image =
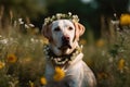
[[[92,30],[94,38],[100,38],[102,29],[107,32],[108,18],[116,13],[120,16],[121,13],[128,12],[129,0],[47,0],[48,16],[55,13],[72,12],[77,14],[87,27],[87,33]],[[101,17],[103,16],[105,23],[102,27]]]

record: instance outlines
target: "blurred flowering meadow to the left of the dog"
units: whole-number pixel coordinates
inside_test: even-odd
[[[8,25],[0,33],[0,87],[32,87],[40,85],[43,75],[46,39],[34,33],[37,28],[20,26]]]

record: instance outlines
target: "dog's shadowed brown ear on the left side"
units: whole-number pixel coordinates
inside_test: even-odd
[[[46,38],[49,39],[49,41],[52,40],[52,32],[51,32],[51,25],[42,25],[42,30],[41,33]]]

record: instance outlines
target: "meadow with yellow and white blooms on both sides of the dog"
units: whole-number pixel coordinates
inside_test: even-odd
[[[108,38],[102,37],[83,45],[83,61],[96,76],[98,87],[130,86],[130,14],[110,21],[113,30]],[[3,30],[0,28],[0,87],[43,87],[48,84],[44,73],[43,38],[39,29],[24,24],[22,18]],[[64,77],[64,72],[55,69],[54,79]]]

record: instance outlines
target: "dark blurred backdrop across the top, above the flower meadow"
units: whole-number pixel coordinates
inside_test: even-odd
[[[114,14],[119,17],[130,12],[129,0],[0,0],[0,25],[5,26],[6,18],[29,20],[41,29],[43,20],[56,13],[77,14],[87,30],[94,33],[94,38],[108,32]],[[9,21],[10,22],[10,21]],[[102,25],[103,24],[103,25]],[[87,34],[86,34],[87,35]]]

